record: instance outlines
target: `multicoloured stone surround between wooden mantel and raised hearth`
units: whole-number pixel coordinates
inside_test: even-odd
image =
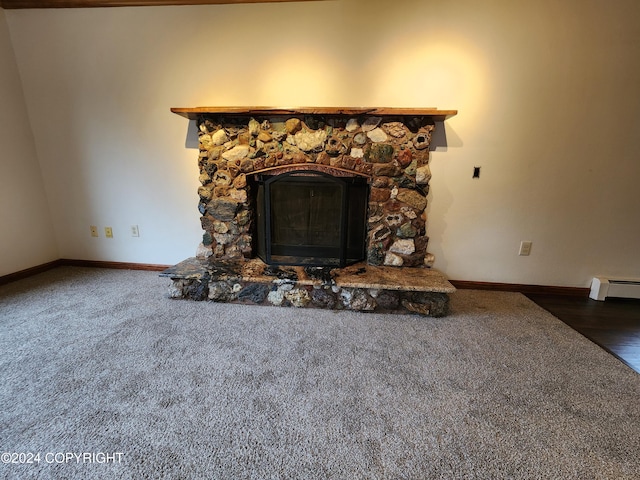
[[[430,267],[426,236],[429,116],[200,115],[199,258],[253,258],[251,176],[320,170],[370,183],[369,265]]]

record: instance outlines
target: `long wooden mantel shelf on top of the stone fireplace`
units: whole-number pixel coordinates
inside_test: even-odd
[[[437,108],[380,108],[380,107],[193,107],[172,108],[171,111],[189,120],[200,115],[376,115],[433,117],[442,122],[458,113],[457,110]]]

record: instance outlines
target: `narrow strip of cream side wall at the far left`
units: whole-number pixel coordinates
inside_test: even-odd
[[[0,9],[0,276],[58,258],[4,10]]]

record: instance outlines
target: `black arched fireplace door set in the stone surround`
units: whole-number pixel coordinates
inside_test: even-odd
[[[258,256],[275,265],[344,266],[364,259],[367,191],[360,177],[261,177]]]

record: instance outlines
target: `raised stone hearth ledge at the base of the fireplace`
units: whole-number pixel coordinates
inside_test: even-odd
[[[228,303],[444,316],[455,287],[430,268],[357,263],[345,268],[220,264],[188,258],[160,274],[170,296]]]

